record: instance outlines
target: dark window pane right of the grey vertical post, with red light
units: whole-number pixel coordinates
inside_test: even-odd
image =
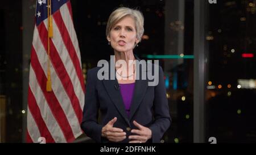
[[[255,2],[217,1],[207,12],[207,136],[255,143]]]

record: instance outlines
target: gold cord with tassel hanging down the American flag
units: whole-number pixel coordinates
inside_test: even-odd
[[[47,83],[46,83],[46,91],[52,91],[52,82],[51,82],[51,70],[50,70],[50,45],[49,40],[53,37],[53,28],[52,28],[52,15],[51,15],[51,0],[48,0],[48,7],[47,7],[47,15],[48,15],[48,72],[47,72]]]

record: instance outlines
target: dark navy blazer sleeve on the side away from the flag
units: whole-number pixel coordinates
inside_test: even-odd
[[[166,97],[166,88],[164,87],[164,75],[162,67],[159,66],[159,83],[155,87],[154,98],[154,123],[149,127],[152,131],[152,143],[160,143],[164,132],[168,130],[171,124],[169,106]]]

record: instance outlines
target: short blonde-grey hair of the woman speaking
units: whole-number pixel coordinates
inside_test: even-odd
[[[115,24],[118,23],[119,20],[124,18],[125,16],[131,16],[135,20],[135,28],[136,28],[136,37],[139,41],[141,41],[141,37],[144,33],[144,17],[141,11],[128,8],[128,7],[119,7],[112,12],[109,16],[108,24],[106,26],[106,36],[108,37],[111,29]]]

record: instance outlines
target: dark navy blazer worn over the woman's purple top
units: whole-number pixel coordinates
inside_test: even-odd
[[[101,137],[102,127],[114,117],[117,117],[114,127],[122,128],[126,132],[126,139],[121,141],[121,143],[128,143],[128,136],[131,135],[130,130],[137,128],[134,126],[133,120],[136,120],[142,126],[150,128],[152,138],[148,142],[160,143],[164,132],[170,127],[171,117],[166,97],[166,88],[164,87],[163,70],[162,67],[158,67],[158,85],[148,86],[148,81],[150,81],[148,79],[135,80],[130,117],[126,114],[121,92],[117,87],[117,79],[99,80],[97,72],[101,67],[88,70],[85,105],[81,123],[81,128],[85,134],[97,143],[108,143],[108,139]],[[148,71],[152,71],[154,74],[154,70],[147,70],[146,72]],[[143,70],[140,70],[139,75],[142,72]],[[98,121],[99,117],[100,122]]]

